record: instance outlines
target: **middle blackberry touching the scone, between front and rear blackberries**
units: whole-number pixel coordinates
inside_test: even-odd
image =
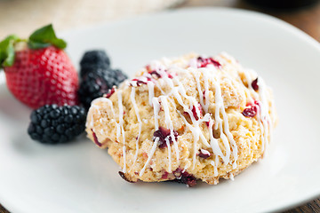
[[[80,102],[88,110],[93,99],[102,97],[113,86],[122,83],[127,76],[119,69],[99,68],[84,76],[78,91]]]

